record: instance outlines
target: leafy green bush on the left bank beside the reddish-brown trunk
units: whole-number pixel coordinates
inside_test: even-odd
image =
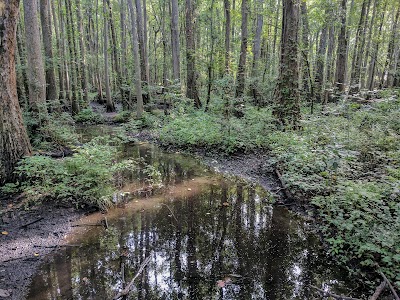
[[[52,199],[107,209],[116,192],[116,174],[136,168],[134,161],[117,162],[116,159],[117,149],[112,141],[95,138],[63,160],[27,157],[16,172],[23,179],[20,189],[31,201]]]

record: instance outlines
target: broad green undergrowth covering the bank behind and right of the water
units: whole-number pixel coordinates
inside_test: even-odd
[[[331,255],[371,287],[379,269],[400,288],[400,100],[393,93],[305,114],[299,131],[275,130],[269,108],[246,105],[237,118],[221,96],[207,113],[177,106],[158,134],[164,145],[190,150],[268,151],[265,169],[277,169],[293,200],[315,208]]]

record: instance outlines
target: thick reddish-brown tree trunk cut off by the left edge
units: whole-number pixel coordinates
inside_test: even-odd
[[[17,97],[15,48],[19,0],[0,0],[0,185],[19,159],[31,154]]]

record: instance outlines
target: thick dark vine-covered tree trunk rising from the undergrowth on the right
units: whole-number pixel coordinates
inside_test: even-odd
[[[299,0],[283,1],[280,71],[274,107],[279,124],[294,129],[299,127],[300,120],[297,60],[299,7]]]

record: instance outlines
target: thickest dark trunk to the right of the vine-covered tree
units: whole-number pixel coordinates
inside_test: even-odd
[[[340,11],[340,33],[338,38],[337,59],[336,59],[336,87],[344,92],[347,69],[347,33],[346,33],[346,5],[347,0],[342,0]]]

